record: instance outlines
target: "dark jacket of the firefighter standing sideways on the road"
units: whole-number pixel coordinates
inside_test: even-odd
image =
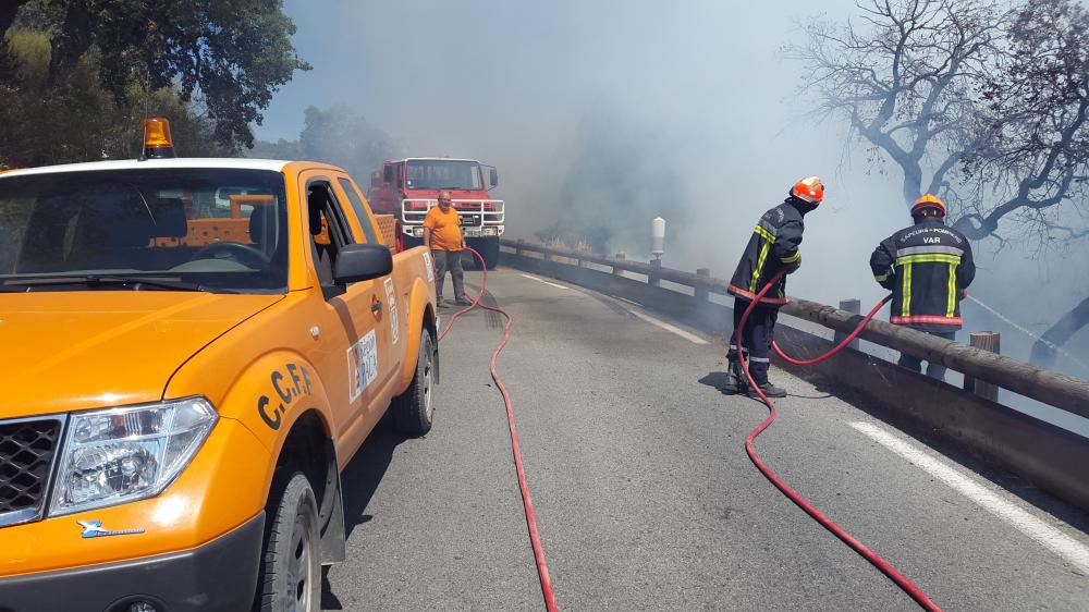
[[[802,232],[806,229],[803,217],[816,207],[817,205],[788,197],[760,217],[730,280],[731,294],[751,302],[781,269],[796,269],[802,265],[798,245],[802,244]],[[760,304],[778,307],[787,302],[784,276],[779,285],[763,296]]]

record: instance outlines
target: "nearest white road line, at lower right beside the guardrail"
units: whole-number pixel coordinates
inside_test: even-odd
[[[983,485],[960,474],[952,466],[916,449],[880,427],[867,423],[852,423],[862,434],[911,462],[934,478],[955,489],[962,495],[983,506],[1018,531],[1032,538],[1040,546],[1061,556],[1081,574],[1089,575],[1089,547],[1002,499]]]

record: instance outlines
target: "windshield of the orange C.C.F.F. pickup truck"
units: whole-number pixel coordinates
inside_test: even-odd
[[[148,169],[0,178],[0,291],[282,292],[283,176]]]

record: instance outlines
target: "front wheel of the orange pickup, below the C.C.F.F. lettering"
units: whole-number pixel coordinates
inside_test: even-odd
[[[261,612],[319,612],[321,559],[318,504],[310,481],[296,472],[287,481],[265,539]]]

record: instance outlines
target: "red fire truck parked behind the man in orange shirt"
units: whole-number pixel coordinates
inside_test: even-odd
[[[402,246],[409,248],[424,243],[424,217],[438,206],[439,192],[449,191],[462,219],[465,242],[480,252],[492,269],[499,261],[499,237],[505,229],[503,200],[488,193],[498,184],[495,168],[473,159],[412,157],[382,162],[382,169],[370,175],[367,199],[376,213],[396,217],[397,236]]]

